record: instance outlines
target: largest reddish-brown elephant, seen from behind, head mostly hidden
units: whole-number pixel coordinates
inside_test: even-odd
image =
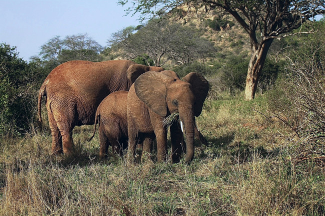
[[[141,74],[149,70],[162,71],[130,60],[103,62],[68,61],[54,68],[39,89],[38,116],[45,97],[49,127],[52,134],[52,154],[72,153],[74,126],[93,124],[99,103],[111,92],[128,91],[131,81],[126,71]]]

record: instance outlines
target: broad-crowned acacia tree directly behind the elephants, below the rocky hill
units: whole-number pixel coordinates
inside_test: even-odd
[[[192,29],[167,19],[152,19],[140,29],[129,26],[113,33],[109,45],[120,49],[128,58],[141,56],[150,65],[162,66],[170,59],[188,63],[195,58],[211,56],[214,48],[208,40],[195,34]]]

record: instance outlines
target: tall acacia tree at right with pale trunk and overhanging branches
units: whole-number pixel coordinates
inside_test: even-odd
[[[141,12],[153,16],[182,4],[219,8],[231,14],[250,38],[251,56],[246,76],[246,100],[252,100],[255,96],[258,78],[272,41],[290,35],[293,29],[299,28],[315,15],[325,14],[323,0],[119,0],[118,3],[124,5],[128,1],[134,6],[127,8],[126,12]]]

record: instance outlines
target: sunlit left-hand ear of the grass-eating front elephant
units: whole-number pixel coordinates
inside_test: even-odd
[[[135,94],[153,112],[165,117],[167,115],[166,83],[173,80],[172,77],[153,71],[143,73],[134,82]]]

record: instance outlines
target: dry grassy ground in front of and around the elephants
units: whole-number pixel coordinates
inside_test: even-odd
[[[323,164],[296,163],[294,133],[260,114],[264,96],[218,98],[197,118],[209,145],[196,143],[190,165],[98,160],[92,126],[74,129],[69,157],[50,155],[46,124],[1,139],[0,215],[324,215]]]

